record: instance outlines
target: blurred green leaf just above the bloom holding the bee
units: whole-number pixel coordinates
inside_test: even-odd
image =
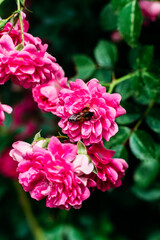
[[[86,55],[75,55],[73,60],[77,71],[75,78],[89,78],[96,70],[93,60]]]

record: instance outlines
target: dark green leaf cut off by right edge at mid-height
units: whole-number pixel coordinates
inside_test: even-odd
[[[154,132],[160,133],[160,110],[158,107],[151,109],[145,120]]]

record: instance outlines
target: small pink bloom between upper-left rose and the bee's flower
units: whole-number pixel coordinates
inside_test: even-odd
[[[60,68],[54,79],[32,89],[33,98],[42,111],[55,114],[59,91],[62,88],[67,88],[67,78],[64,77],[64,71]]]

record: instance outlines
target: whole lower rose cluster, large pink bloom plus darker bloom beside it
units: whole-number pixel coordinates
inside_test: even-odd
[[[46,148],[44,144],[45,140],[32,146],[18,141],[10,155],[18,162],[19,182],[24,190],[36,200],[46,197],[47,207],[80,208],[90,196],[89,188],[97,185],[105,191],[120,186],[127,163],[112,159],[113,151],[95,145],[88,149],[90,160],[86,154],[78,154],[77,145],[62,144],[56,137],[50,139]]]

